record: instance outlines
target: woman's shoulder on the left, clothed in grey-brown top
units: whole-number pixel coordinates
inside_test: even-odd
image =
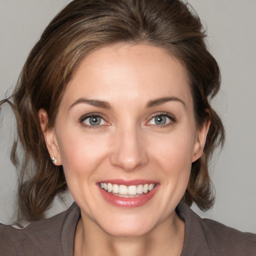
[[[67,244],[68,237],[74,236],[78,219],[79,208],[73,203],[66,211],[32,222],[23,229],[0,224],[0,255],[17,255],[16,248],[18,255],[59,255],[61,239]]]

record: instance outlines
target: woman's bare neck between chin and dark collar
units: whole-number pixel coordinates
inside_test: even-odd
[[[96,223],[81,217],[76,228],[74,256],[180,256],[184,222],[174,213],[148,233],[136,237],[116,237]]]

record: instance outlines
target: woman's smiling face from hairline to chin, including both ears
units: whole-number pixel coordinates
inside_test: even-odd
[[[44,135],[83,221],[127,236],[173,218],[206,128],[196,129],[178,60],[155,46],[117,44],[81,61]]]

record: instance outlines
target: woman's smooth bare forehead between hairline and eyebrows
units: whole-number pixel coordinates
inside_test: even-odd
[[[164,96],[191,103],[181,62],[160,47],[115,44],[95,50],[80,62],[62,101],[72,104],[79,97],[89,97],[128,103]]]

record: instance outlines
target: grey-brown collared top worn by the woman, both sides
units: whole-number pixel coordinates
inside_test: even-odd
[[[185,221],[181,256],[256,256],[256,234],[202,219],[186,204],[177,213]],[[79,218],[74,202],[66,211],[21,230],[0,224],[0,256],[72,256]]]

